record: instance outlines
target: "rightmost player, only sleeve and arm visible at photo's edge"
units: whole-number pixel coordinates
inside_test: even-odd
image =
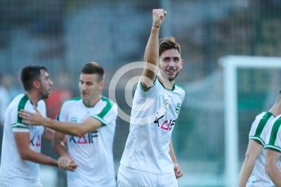
[[[279,92],[279,96],[281,91]],[[281,96],[278,98],[281,102]],[[266,135],[266,173],[275,186],[281,186],[280,156],[281,156],[281,115],[275,117],[268,127]]]

